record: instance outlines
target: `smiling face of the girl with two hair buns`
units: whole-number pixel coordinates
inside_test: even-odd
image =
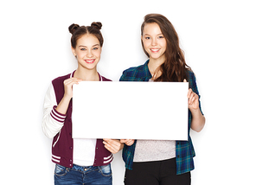
[[[94,35],[83,35],[77,40],[76,48],[72,48],[72,52],[77,58],[79,68],[96,69],[101,54],[99,40]]]

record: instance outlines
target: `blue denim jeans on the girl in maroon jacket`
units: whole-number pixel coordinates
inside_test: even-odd
[[[106,166],[82,167],[75,165],[72,169],[56,164],[54,171],[55,185],[112,185],[111,164]]]

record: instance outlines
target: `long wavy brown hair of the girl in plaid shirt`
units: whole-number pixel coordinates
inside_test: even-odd
[[[155,81],[178,81],[184,79],[188,81],[187,71],[191,68],[186,64],[184,54],[179,46],[179,38],[171,22],[160,14],[148,14],[144,16],[144,22],[141,25],[141,35],[143,36],[144,25],[147,23],[157,23],[160,27],[163,37],[166,40],[165,61],[157,68],[161,72]],[[144,49],[144,43],[142,41]],[[150,54],[144,49],[144,53],[150,57]]]

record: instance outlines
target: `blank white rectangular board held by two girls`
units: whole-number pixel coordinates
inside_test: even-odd
[[[188,140],[188,82],[82,81],[74,138]]]

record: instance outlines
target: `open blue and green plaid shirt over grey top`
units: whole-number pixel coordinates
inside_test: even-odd
[[[149,81],[152,76],[148,67],[149,60],[144,63],[144,65],[139,67],[131,67],[126,69],[123,75],[120,78],[120,81]],[[195,75],[194,73],[188,71],[189,77],[189,88],[192,88],[193,92],[198,94],[196,82],[195,82]],[[200,96],[199,96],[200,98]],[[201,103],[199,101],[199,106],[201,110]],[[189,124],[188,129],[190,131],[191,125],[191,112],[189,111]],[[189,133],[189,132],[188,132]],[[176,174],[180,175],[183,173],[187,173],[193,169],[194,161],[193,157],[195,156],[195,150],[192,144],[191,137],[188,136],[188,141],[176,141]],[[125,168],[132,169],[134,151],[136,147],[136,140],[134,144],[131,146],[125,145],[123,149],[123,159],[125,161]]]

